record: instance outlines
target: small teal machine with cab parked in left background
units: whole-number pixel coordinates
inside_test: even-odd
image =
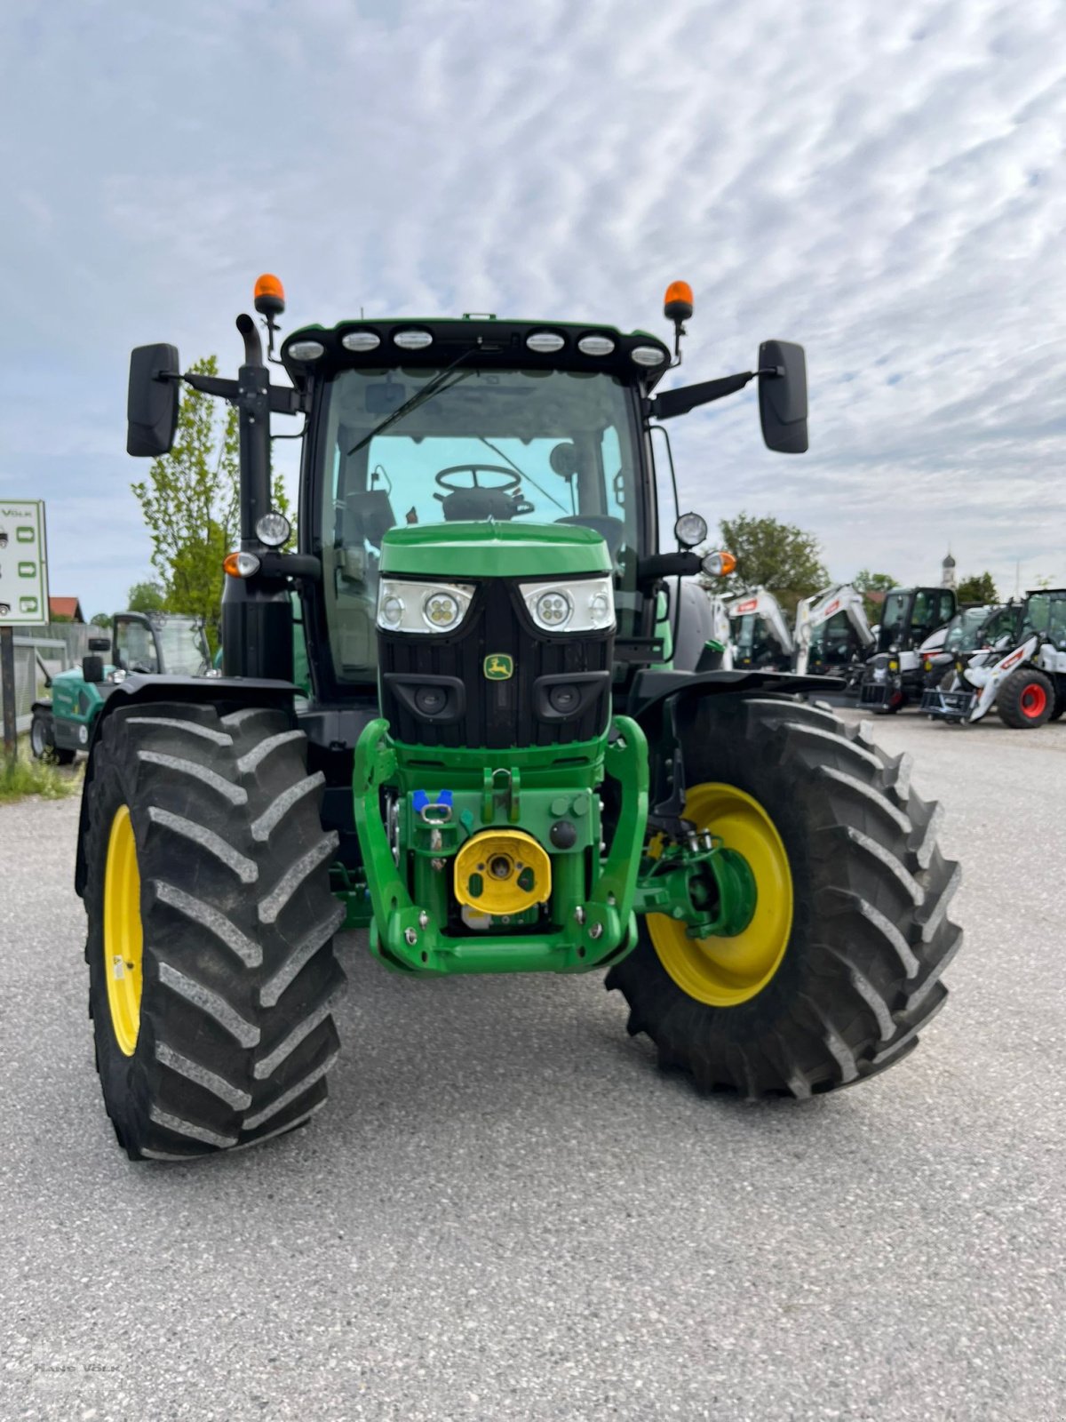
[[[114,651],[112,651],[114,644]],[[104,653],[112,660],[104,661]],[[210,651],[202,617],[178,613],[115,613],[109,637],[90,637],[80,667],[47,678],[51,691],[33,704],[30,751],[38,761],[70,765],[115,687],[138,675],[205,675]]]

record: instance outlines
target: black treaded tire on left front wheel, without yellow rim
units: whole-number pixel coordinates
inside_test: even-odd
[[[186,1160],[303,1125],[325,1101],[344,985],[321,775],[279,711],[108,715],[87,784],[90,1015],[104,1102],[134,1160]],[[136,1045],[108,1005],[104,883],[129,811],[144,934]],[[114,947],[114,944],[112,944]]]

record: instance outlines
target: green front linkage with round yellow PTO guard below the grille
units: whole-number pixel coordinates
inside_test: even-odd
[[[601,853],[604,772],[620,808]],[[635,943],[648,747],[628,717],[614,718],[605,741],[493,759],[449,749],[446,764],[375,720],[355,748],[352,792],[371,948],[389,967],[584,973]]]

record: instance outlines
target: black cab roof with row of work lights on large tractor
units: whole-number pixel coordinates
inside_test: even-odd
[[[651,390],[669,370],[669,350],[648,331],[628,336],[613,326],[573,321],[512,321],[489,314],[404,317],[301,326],[281,346],[281,360],[300,390],[318,371],[463,365],[523,370],[604,371]]]

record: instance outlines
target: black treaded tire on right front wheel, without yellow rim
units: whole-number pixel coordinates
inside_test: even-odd
[[[806,1098],[901,1061],[947,997],[962,941],[947,919],[958,865],[935,848],[938,808],[908,792],[910,761],[887,757],[827,710],[785,698],[715,697],[684,747],[689,786],[753,796],[785,846],[793,920],[766,985],[735,1007],[689,997],[640,920],[607,975],[659,1065],[704,1092]]]

